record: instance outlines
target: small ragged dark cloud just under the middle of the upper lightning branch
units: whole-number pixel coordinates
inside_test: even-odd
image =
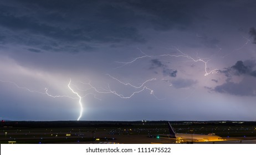
[[[157,69],[157,68],[161,68],[162,69],[162,73],[164,76],[171,76],[171,77],[176,77],[178,71],[174,70],[174,69],[168,69],[168,66],[163,64],[160,60],[158,59],[152,59],[151,61],[151,67],[150,69]],[[157,72],[155,72],[157,73]]]

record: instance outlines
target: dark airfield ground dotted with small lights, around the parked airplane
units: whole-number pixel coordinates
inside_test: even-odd
[[[256,141],[256,122],[171,121],[177,133],[215,133],[226,143]],[[2,121],[0,143],[175,143],[167,121]]]

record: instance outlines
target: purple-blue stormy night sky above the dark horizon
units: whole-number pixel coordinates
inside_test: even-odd
[[[2,0],[0,119],[254,121],[255,8]]]

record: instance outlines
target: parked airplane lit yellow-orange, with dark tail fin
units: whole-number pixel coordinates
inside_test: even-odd
[[[193,142],[215,142],[225,141],[222,137],[216,136],[213,133],[208,135],[190,134],[190,133],[175,133],[170,122],[168,122],[168,128],[171,138],[176,138],[176,143],[193,143]]]

